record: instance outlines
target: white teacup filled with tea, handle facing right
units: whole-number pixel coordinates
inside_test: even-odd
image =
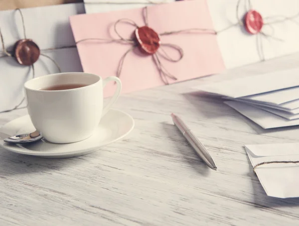
[[[103,108],[103,89],[109,81],[117,83],[117,90]],[[114,76],[102,79],[95,74],[70,72],[34,78],[24,87],[28,113],[36,130],[47,141],[63,144],[92,135],[118,99],[122,83]]]

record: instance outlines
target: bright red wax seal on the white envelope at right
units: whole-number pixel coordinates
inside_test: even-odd
[[[264,25],[262,15],[256,10],[249,10],[245,15],[245,28],[251,34],[257,34]]]

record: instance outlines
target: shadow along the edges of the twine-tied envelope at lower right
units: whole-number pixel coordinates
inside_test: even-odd
[[[275,208],[275,207],[298,207],[299,206],[299,198],[288,198],[288,199],[281,199],[267,196],[263,186],[261,185],[258,177],[253,172],[253,167],[250,163],[249,158],[248,165],[249,165],[249,176],[251,178],[252,187],[253,187],[253,204],[257,208]]]

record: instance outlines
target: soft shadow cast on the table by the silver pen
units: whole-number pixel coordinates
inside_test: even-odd
[[[166,131],[169,140],[173,142],[175,149],[180,152],[181,160],[191,166],[196,173],[207,177],[212,170],[197,156],[176,126],[164,122],[162,127]]]

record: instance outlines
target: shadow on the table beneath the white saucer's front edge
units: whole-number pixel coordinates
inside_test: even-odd
[[[92,154],[93,153],[89,155]],[[63,168],[72,166],[79,167],[80,163],[85,161],[84,158],[87,157],[81,156],[65,159],[46,159],[16,154],[0,149],[0,176],[11,177],[13,175],[33,173],[51,174],[51,171],[60,171]]]

